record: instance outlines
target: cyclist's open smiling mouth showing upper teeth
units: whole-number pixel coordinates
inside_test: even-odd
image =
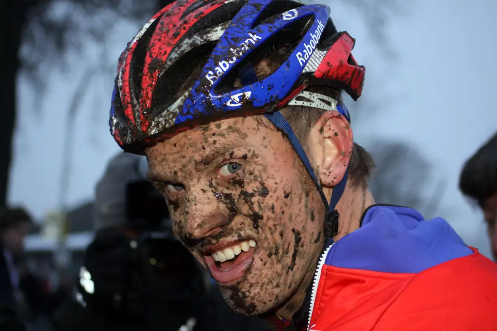
[[[218,283],[241,278],[253,261],[255,246],[255,241],[250,239],[205,256],[212,277]]]

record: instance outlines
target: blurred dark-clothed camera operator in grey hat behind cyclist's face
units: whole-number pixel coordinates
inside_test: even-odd
[[[96,236],[56,329],[270,330],[234,313],[173,237],[166,203],[144,179],[146,167],[140,156],[119,154],[97,185]]]

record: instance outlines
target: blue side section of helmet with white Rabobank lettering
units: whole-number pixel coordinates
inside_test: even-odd
[[[175,124],[192,120],[197,114],[237,110],[245,103],[254,108],[274,105],[293,92],[295,83],[317,47],[330,9],[326,5],[303,5],[252,29],[259,15],[271,2],[249,0],[233,18],[193,85]],[[314,20],[302,42],[273,74],[240,89],[223,94],[215,92],[219,82],[255,48],[296,19],[309,16],[314,16]]]

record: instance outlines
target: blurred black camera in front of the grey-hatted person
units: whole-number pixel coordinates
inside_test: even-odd
[[[152,184],[136,181],[127,185],[126,219],[128,225],[145,230],[134,250],[142,290],[167,301],[203,292],[199,266],[172,234],[166,200]]]

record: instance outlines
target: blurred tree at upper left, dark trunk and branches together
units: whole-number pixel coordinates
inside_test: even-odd
[[[3,152],[0,162],[0,205],[6,203],[12,158],[17,74],[22,71],[28,76],[39,97],[47,75],[43,65],[63,67],[68,50],[81,50],[88,39],[101,42],[116,20],[145,20],[162,3],[162,0],[0,1],[0,63],[5,65],[0,79],[3,115],[0,130],[0,148]]]

